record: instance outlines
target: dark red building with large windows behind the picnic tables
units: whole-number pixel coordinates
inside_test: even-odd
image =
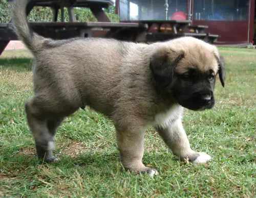
[[[146,12],[145,14],[138,14],[137,18],[135,17],[132,19],[120,17],[121,20],[164,19],[162,16],[164,15],[164,0],[130,1],[132,4],[138,5],[136,9],[141,10],[141,8],[143,8],[143,11]],[[125,7],[125,2],[127,5],[130,1],[120,0],[123,4],[122,7]],[[118,2],[119,0],[116,1],[116,6],[118,6]],[[184,12],[188,18],[190,0],[180,0],[177,1],[178,3],[175,3],[176,1],[168,0],[168,2],[168,19],[172,19],[172,14],[179,11]],[[205,30],[206,33],[218,34],[221,36],[221,38],[218,39],[219,43],[236,44],[252,41],[253,34],[255,33],[255,0],[191,0],[191,3],[191,19],[193,24],[207,25],[209,28]],[[122,12],[122,9],[119,11]],[[129,12],[133,12],[133,10],[129,10]],[[153,17],[148,18],[148,13],[154,13],[154,15],[152,15]],[[158,15],[161,15],[160,18],[157,17]]]

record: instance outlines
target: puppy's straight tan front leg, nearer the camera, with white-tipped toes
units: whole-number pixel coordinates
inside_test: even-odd
[[[142,163],[144,152],[144,127],[125,123],[125,126],[118,126],[118,149],[121,162],[125,169],[135,172],[146,172],[149,176],[157,175],[157,170],[146,167]]]

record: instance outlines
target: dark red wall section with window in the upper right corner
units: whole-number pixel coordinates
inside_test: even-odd
[[[254,4],[255,0],[193,0],[193,24],[209,26],[205,32],[221,36],[217,43],[251,42]]]

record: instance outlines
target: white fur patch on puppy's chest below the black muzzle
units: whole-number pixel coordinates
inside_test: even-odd
[[[165,112],[161,112],[155,115],[154,126],[166,127],[172,121],[181,117],[183,112],[183,107],[180,105],[175,105]]]

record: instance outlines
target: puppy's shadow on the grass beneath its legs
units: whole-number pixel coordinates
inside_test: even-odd
[[[41,160],[37,159],[35,148],[29,146],[30,152],[23,153],[24,148],[16,148],[15,150],[6,151],[3,154],[3,159],[6,163],[12,163],[13,166],[27,167],[27,166],[37,166],[37,165],[49,165],[51,167],[65,167],[65,168],[75,168],[75,167],[86,167],[92,169],[110,170],[115,169],[116,163],[120,163],[118,151],[110,153],[84,153],[77,157],[71,157],[68,155],[55,155],[59,158],[56,163],[42,163]],[[11,159],[10,156],[13,156]],[[158,155],[145,155],[143,158],[143,163],[145,165],[152,164],[153,167],[159,168],[156,162],[162,161],[166,157],[164,154]],[[178,158],[173,155],[168,155],[168,160],[179,162]],[[182,162],[181,162],[182,163]],[[162,164],[163,165],[163,164]]]

